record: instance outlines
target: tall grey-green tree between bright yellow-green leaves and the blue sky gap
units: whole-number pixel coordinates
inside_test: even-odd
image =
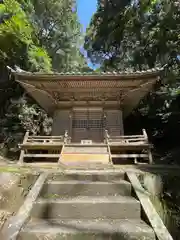
[[[73,0],[27,0],[22,4],[36,30],[36,39],[52,59],[54,71],[86,66],[79,50],[83,36]]]

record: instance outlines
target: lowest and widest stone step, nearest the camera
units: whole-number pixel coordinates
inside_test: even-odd
[[[41,237],[41,238],[40,238]],[[155,240],[151,227],[133,220],[53,220],[28,223],[18,240]]]

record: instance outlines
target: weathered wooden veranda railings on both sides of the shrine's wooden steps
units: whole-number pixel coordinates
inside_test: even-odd
[[[64,149],[71,143],[68,131],[61,136],[34,136],[26,132],[22,144],[19,144],[21,154],[19,162],[24,159],[52,159],[59,162]],[[129,136],[111,136],[107,130],[104,132],[104,144],[93,146],[108,148],[109,161],[113,163],[114,159],[133,159],[137,163],[140,159],[152,163],[151,144],[148,142],[148,136],[143,129],[142,135]],[[92,146],[92,145],[91,145]],[[82,144],[73,145],[73,147],[84,147]],[[43,160],[42,160],[43,161]],[[118,160],[119,161],[119,160]]]

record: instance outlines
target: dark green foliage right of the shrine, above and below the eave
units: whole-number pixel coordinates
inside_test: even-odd
[[[167,64],[161,86],[142,101],[128,121],[130,124],[134,117],[154,141],[180,134],[179,36],[180,4],[170,0],[105,0],[103,4],[99,0],[86,33],[88,56],[101,63],[102,70],[135,71]]]

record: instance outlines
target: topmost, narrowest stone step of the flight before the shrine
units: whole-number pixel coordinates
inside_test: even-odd
[[[69,170],[64,173],[50,173],[48,179],[55,181],[112,181],[124,179],[124,171],[113,170]]]

